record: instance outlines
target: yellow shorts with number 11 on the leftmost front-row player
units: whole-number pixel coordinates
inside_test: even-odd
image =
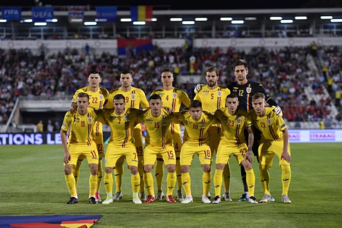
[[[98,153],[95,143],[92,143],[90,146],[69,144],[68,150],[71,155],[71,161],[68,162],[68,165],[76,165],[77,159],[79,159],[80,156],[83,156],[84,159],[87,158],[88,164],[98,164]]]

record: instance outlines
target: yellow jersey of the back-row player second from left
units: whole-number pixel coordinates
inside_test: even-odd
[[[142,108],[149,107],[149,103],[148,103],[148,100],[146,99],[144,91],[131,86],[131,89],[127,92],[122,91],[121,87],[111,90],[109,92],[106,108],[114,108],[113,107],[114,96],[117,94],[122,94],[125,97],[125,108],[139,109],[140,105]],[[137,124],[136,126],[134,126],[134,129],[135,131],[141,132],[140,124]]]

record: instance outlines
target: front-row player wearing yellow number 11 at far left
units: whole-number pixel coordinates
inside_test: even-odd
[[[89,108],[89,96],[86,93],[77,95],[77,111],[67,112],[61,129],[61,140],[64,148],[64,174],[67,187],[70,192],[70,200],[67,204],[78,203],[75,177],[72,173],[73,166],[80,155],[87,157],[90,167],[89,178],[89,203],[97,203],[95,191],[97,184],[98,153],[96,144],[92,141],[94,123],[97,121],[95,109]],[[67,144],[66,133],[71,128],[69,142]]]

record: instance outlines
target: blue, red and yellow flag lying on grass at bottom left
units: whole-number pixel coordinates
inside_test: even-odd
[[[89,228],[101,215],[0,216],[3,228]]]

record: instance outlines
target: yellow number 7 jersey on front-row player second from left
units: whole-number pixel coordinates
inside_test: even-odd
[[[125,108],[122,114],[117,115],[113,108],[101,110],[102,118],[98,118],[98,121],[110,127],[108,144],[122,148],[134,146],[133,128],[136,117],[141,111],[135,108]]]

